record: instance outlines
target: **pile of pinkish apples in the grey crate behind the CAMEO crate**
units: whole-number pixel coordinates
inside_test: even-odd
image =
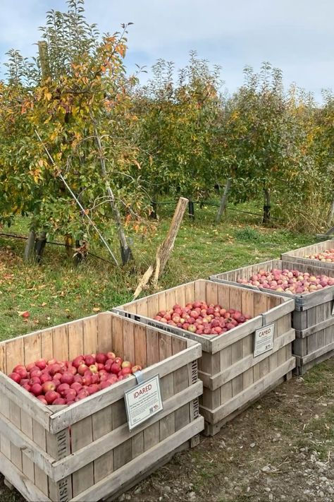
[[[327,275],[312,275],[299,270],[259,270],[257,274],[249,279],[238,279],[240,284],[249,284],[273,291],[285,292],[287,294],[308,294],[323,287],[333,286],[334,278]]]

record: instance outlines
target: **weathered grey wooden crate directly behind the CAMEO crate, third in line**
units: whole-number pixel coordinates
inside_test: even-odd
[[[309,260],[310,262],[311,260]],[[314,262],[314,260],[312,261]],[[317,262],[322,263],[322,262]],[[236,284],[237,279],[248,279],[259,270],[297,269],[300,272],[309,272],[313,275],[326,274],[334,277],[334,269],[316,267],[310,264],[295,263],[282,260],[265,261],[255,263],[236,270],[230,270],[218,275],[212,275],[211,280],[224,284]],[[238,283],[237,283],[238,284]],[[247,289],[258,288],[252,285],[240,285]],[[292,344],[292,353],[296,356],[296,372],[299,375],[309,370],[314,364],[318,364],[334,354],[334,316],[333,299],[334,286],[326,287],[320,291],[309,294],[287,294],[271,291],[271,294],[293,297],[295,299],[295,311],[292,313],[292,326],[296,330],[296,340]]]

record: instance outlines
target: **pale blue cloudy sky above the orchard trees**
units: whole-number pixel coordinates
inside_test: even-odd
[[[0,59],[11,47],[35,54],[51,8],[65,0],[0,0]],[[159,57],[185,66],[190,49],[223,67],[232,92],[242,84],[242,68],[259,70],[270,61],[285,83],[314,92],[333,89],[334,0],[86,0],[87,20],[102,32],[129,29],[129,68],[154,64]],[[3,74],[3,72],[1,72]]]

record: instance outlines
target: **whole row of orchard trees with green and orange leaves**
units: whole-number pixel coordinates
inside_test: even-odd
[[[0,221],[30,218],[26,257],[47,234],[80,244],[108,227],[120,258],[125,231],[144,229],[151,201],[264,200],[268,220],[318,229],[334,213],[334,97],[323,104],[281,72],[245,68],[245,83],[222,92],[221,68],[190,54],[185,68],[159,60],[145,85],[129,76],[128,25],[101,36],[84,1],[47,13],[37,56],[8,53],[0,81]],[[140,68],[138,68],[140,73]],[[108,243],[105,243],[108,246]],[[109,249],[111,252],[111,249]],[[117,260],[116,260],[117,261]]]

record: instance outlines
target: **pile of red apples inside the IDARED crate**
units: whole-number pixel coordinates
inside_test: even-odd
[[[78,356],[72,361],[39,359],[26,366],[18,364],[8,376],[44,405],[71,405],[140,369],[142,366],[106,352]]]

